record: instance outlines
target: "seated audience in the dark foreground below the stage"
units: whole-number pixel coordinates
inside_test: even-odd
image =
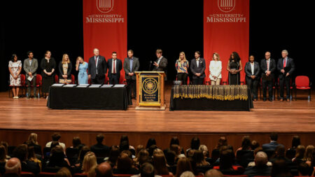
[[[294,136],[292,147],[286,149],[277,142],[278,135],[270,134],[270,143],[260,144],[244,136],[241,147],[234,150],[225,136],[210,153],[200,139],[193,138],[190,148],[183,150],[179,139],[173,137],[169,148],[158,148],[155,139],[146,146],[130,146],[128,136],[121,136],[119,146],[104,145],[104,134],[98,134],[97,144],[86,146],[73,137],[73,146],[59,142],[60,134],[43,148],[32,133],[25,143],[8,152],[8,143],[0,143],[0,176],[20,176],[28,171],[34,176],[44,172],[55,176],[85,174],[94,176],[314,176],[314,146],[302,146]]]

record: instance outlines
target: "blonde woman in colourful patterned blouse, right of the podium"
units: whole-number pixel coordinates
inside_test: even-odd
[[[179,59],[176,60],[175,68],[177,71],[177,80],[181,80],[183,85],[187,84],[189,62],[186,59],[185,52],[179,53]]]

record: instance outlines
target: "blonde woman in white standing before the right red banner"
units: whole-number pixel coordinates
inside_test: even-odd
[[[211,85],[220,85],[222,78],[222,62],[220,61],[220,56],[216,52],[214,53],[212,59],[213,60],[210,62],[209,65],[209,78],[211,80]]]

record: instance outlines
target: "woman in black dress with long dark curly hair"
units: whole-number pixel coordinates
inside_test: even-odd
[[[239,85],[240,82],[240,73],[243,67],[241,66],[241,59],[239,58],[239,54],[237,52],[232,52],[229,62],[228,68],[229,71],[229,85]]]

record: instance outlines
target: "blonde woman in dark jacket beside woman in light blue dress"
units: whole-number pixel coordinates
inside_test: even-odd
[[[71,70],[72,64],[69,59],[69,55],[64,54],[62,61],[59,63],[59,83],[69,84],[71,83]]]

